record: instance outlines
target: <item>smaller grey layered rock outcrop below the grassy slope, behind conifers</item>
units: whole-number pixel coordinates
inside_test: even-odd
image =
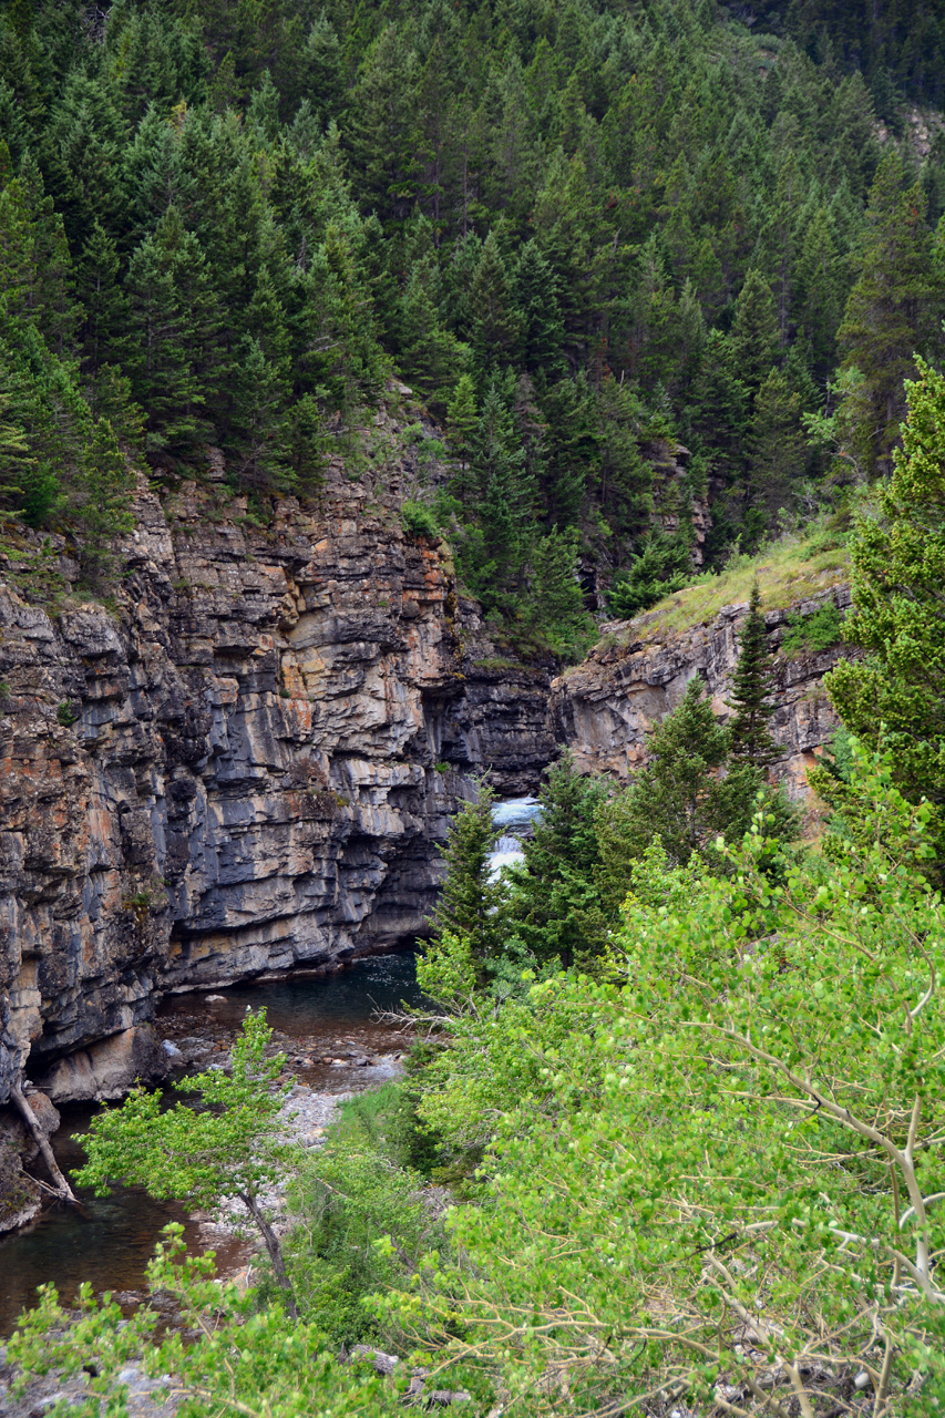
[[[779,651],[789,615],[813,614],[826,601],[849,610],[849,587],[836,586],[788,610],[768,611],[770,651]],[[552,683],[555,730],[572,747],[578,766],[621,781],[639,771],[646,764],[647,735],[675,709],[694,675],[704,679],[724,720],[746,613],[748,604],[726,605],[709,624],[684,631],[663,630],[658,614],[604,625],[587,659]],[[783,757],[772,771],[793,798],[806,794],[807,769],[837,727],[823,676],[843,654],[850,654],[849,648],[834,645],[817,654],[778,655],[770,732]]]

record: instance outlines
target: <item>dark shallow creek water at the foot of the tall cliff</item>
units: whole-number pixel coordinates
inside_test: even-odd
[[[348,1092],[389,1078],[393,1068],[385,1056],[390,1059],[404,1039],[397,1025],[377,1021],[375,1014],[420,998],[410,953],[369,956],[328,977],[285,977],[220,994],[217,1001],[209,1001],[206,994],[166,1000],[156,1018],[162,1037],[197,1039],[223,1052],[247,1008],[265,1005],[277,1042],[292,1059],[291,1072],[324,1092]],[[345,1058],[335,1059],[342,1054]],[[377,1066],[355,1065],[352,1054],[382,1059]],[[81,1105],[62,1110],[52,1147],[67,1174],[82,1164],[75,1137],[88,1130],[92,1113],[92,1107]],[[116,1187],[104,1198],[89,1193],[79,1197],[82,1212],[52,1205],[23,1231],[0,1236],[0,1337],[10,1333],[24,1307],[35,1303],[35,1288],[50,1280],[65,1302],[74,1299],[82,1280],[96,1292],[139,1289],[162,1227],[186,1222],[179,1205],[153,1201],[139,1188]],[[189,1244],[199,1249],[197,1227],[186,1222],[186,1228]],[[221,1268],[228,1269],[245,1254],[245,1242],[217,1245],[216,1251]]]

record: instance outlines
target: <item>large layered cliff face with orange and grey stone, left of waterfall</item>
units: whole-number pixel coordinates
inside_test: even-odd
[[[265,529],[213,462],[163,502],[142,485],[106,605],[9,529],[0,1100],[27,1061],[119,1035],[131,1058],[160,991],[417,933],[470,774],[536,786],[549,674],[501,661],[446,546],[404,533],[413,454],[379,424],[383,472],[338,459],[316,510],[287,499]],[[23,594],[30,556],[52,611]]]

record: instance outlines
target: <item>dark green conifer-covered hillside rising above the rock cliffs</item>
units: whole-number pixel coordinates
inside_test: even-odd
[[[14,0],[0,498],[101,581],[129,459],[265,522],[400,376],[406,520],[559,652],[888,472],[942,352],[935,0]],[[573,573],[579,571],[579,581]]]

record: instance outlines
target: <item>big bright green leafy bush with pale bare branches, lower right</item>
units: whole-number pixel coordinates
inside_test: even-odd
[[[438,1364],[475,1363],[534,1415],[648,1394],[810,1418],[866,1384],[873,1414],[918,1418],[945,1398],[931,814],[888,761],[858,753],[854,776],[868,821],[834,862],[772,888],[761,820],[731,879],[654,861],[613,983],[457,1022],[423,1110],[492,1134],[487,1195],[453,1212],[453,1259],[376,1302]]]

